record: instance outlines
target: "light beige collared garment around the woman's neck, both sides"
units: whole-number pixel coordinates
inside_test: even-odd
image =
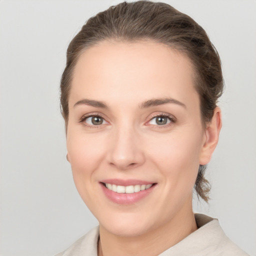
[[[198,229],[158,256],[248,256],[223,232],[218,220],[195,214]],[[97,256],[99,228],[94,227],[56,256]]]

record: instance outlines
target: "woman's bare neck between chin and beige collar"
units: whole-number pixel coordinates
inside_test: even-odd
[[[169,222],[136,236],[118,236],[99,225],[99,256],[158,255],[197,229],[194,214],[187,208]]]

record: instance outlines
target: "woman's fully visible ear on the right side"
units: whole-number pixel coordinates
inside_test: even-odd
[[[199,163],[207,164],[218,143],[219,132],[222,126],[221,110],[217,106],[214,109],[211,121],[206,124],[204,144],[201,148]]]

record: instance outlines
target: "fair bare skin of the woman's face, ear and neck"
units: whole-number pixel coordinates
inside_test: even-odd
[[[156,98],[181,104],[141,107]],[[153,41],[100,42],[79,57],[68,104],[67,157],[76,188],[99,221],[104,256],[157,255],[196,230],[193,185],[217,144],[221,117],[217,107],[204,127],[186,56]],[[102,116],[102,124],[84,117],[91,114]],[[171,119],[159,125],[155,116],[162,114]],[[103,193],[99,181],[107,178],[156,184],[123,205]]]

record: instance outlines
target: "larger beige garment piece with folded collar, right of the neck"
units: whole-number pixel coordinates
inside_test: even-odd
[[[217,219],[195,214],[198,229],[160,256],[248,256],[224,233]]]

